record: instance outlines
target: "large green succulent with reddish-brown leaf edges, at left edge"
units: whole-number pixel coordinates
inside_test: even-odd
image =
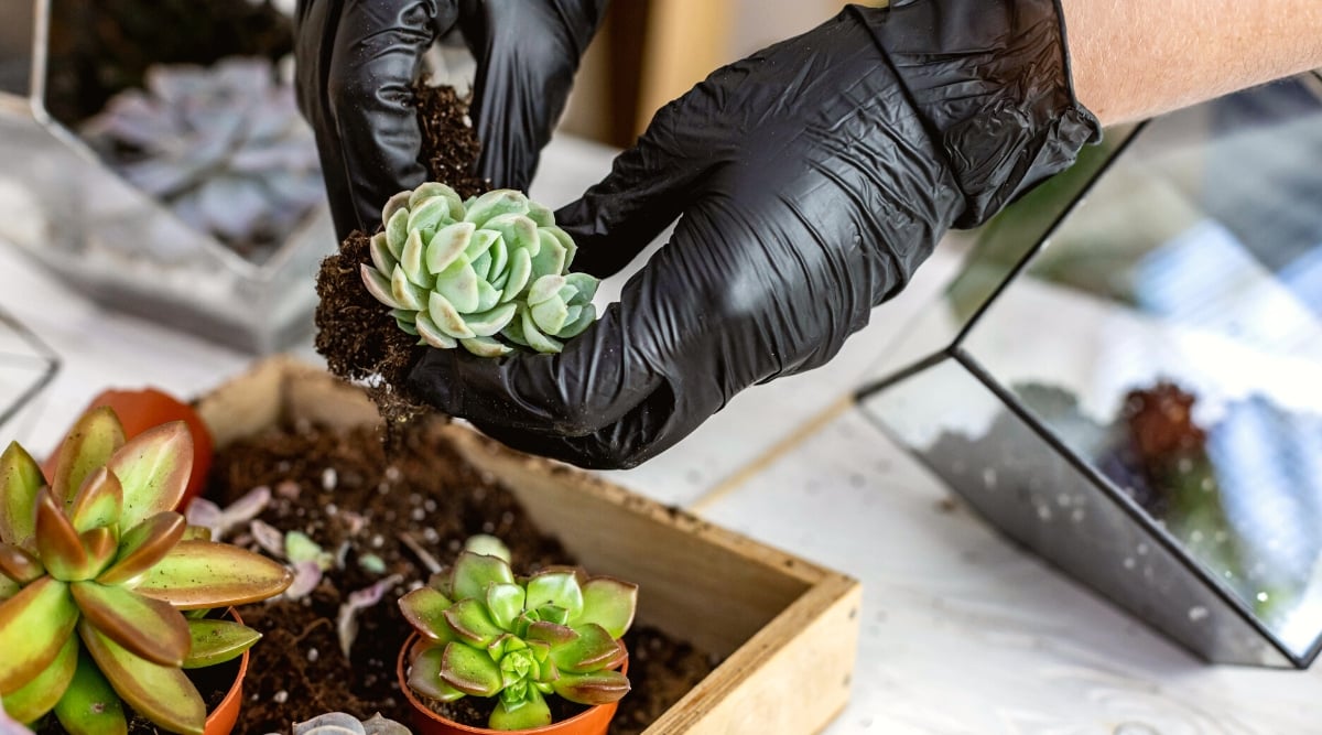
[[[184,422],[132,440],[110,408],[74,424],[49,485],[17,443],[0,455],[0,699],[20,722],[54,711],[74,735],[124,732],[123,702],[171,732],[202,732],[181,669],[258,637],[180,611],[278,595],[291,575],[189,527],[175,506],[193,464]]]

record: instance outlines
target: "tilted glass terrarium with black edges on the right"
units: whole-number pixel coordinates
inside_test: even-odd
[[[1322,78],[1109,131],[990,222],[863,411],[1218,662],[1322,646]]]

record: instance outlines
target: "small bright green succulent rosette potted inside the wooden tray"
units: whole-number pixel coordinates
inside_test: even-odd
[[[620,636],[633,623],[637,586],[555,567],[516,578],[504,559],[464,551],[449,574],[399,599],[426,644],[408,686],[452,702],[498,697],[488,726],[551,722],[545,697],[607,705],[629,691]]]

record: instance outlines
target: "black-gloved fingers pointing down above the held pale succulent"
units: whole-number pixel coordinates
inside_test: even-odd
[[[479,174],[527,189],[607,0],[299,0],[299,108],[316,131],[336,231],[373,231],[393,194],[427,180],[412,83],[459,28],[477,59]]]

